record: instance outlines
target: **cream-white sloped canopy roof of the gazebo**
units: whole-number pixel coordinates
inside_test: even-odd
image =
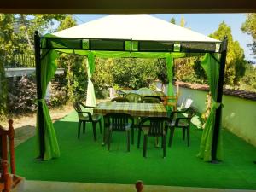
[[[110,38],[149,41],[220,42],[151,15],[108,15],[53,35],[61,38]]]

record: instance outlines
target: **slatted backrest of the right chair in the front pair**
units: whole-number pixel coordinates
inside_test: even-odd
[[[170,121],[166,117],[147,117],[141,120],[139,127],[147,127],[148,136],[162,136],[166,133],[165,123]]]

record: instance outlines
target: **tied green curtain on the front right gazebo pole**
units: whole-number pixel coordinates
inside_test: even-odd
[[[218,95],[218,76],[219,76],[219,59],[218,54],[206,54],[201,61],[201,67],[207,73],[208,84],[210,86],[212,96],[212,108],[207,119],[205,128],[201,137],[201,145],[198,157],[203,160],[212,160],[212,137],[216,119],[216,110],[221,106],[221,103],[217,102]],[[218,148],[217,148],[217,159],[222,160],[222,134],[219,131],[218,137]]]

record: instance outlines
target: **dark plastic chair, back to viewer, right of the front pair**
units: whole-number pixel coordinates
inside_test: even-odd
[[[147,117],[141,120],[139,124],[137,148],[140,148],[141,131],[144,132],[143,139],[143,157],[147,155],[148,137],[161,137],[163,148],[163,157],[166,157],[166,124],[171,123],[167,117]]]

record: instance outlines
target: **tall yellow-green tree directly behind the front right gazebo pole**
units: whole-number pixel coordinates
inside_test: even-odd
[[[245,73],[245,56],[244,51],[240,47],[238,41],[234,41],[230,26],[224,22],[220,23],[218,30],[210,34],[211,38],[223,40],[224,37],[228,38],[228,51],[226,58],[224,84],[237,85],[239,80]]]

